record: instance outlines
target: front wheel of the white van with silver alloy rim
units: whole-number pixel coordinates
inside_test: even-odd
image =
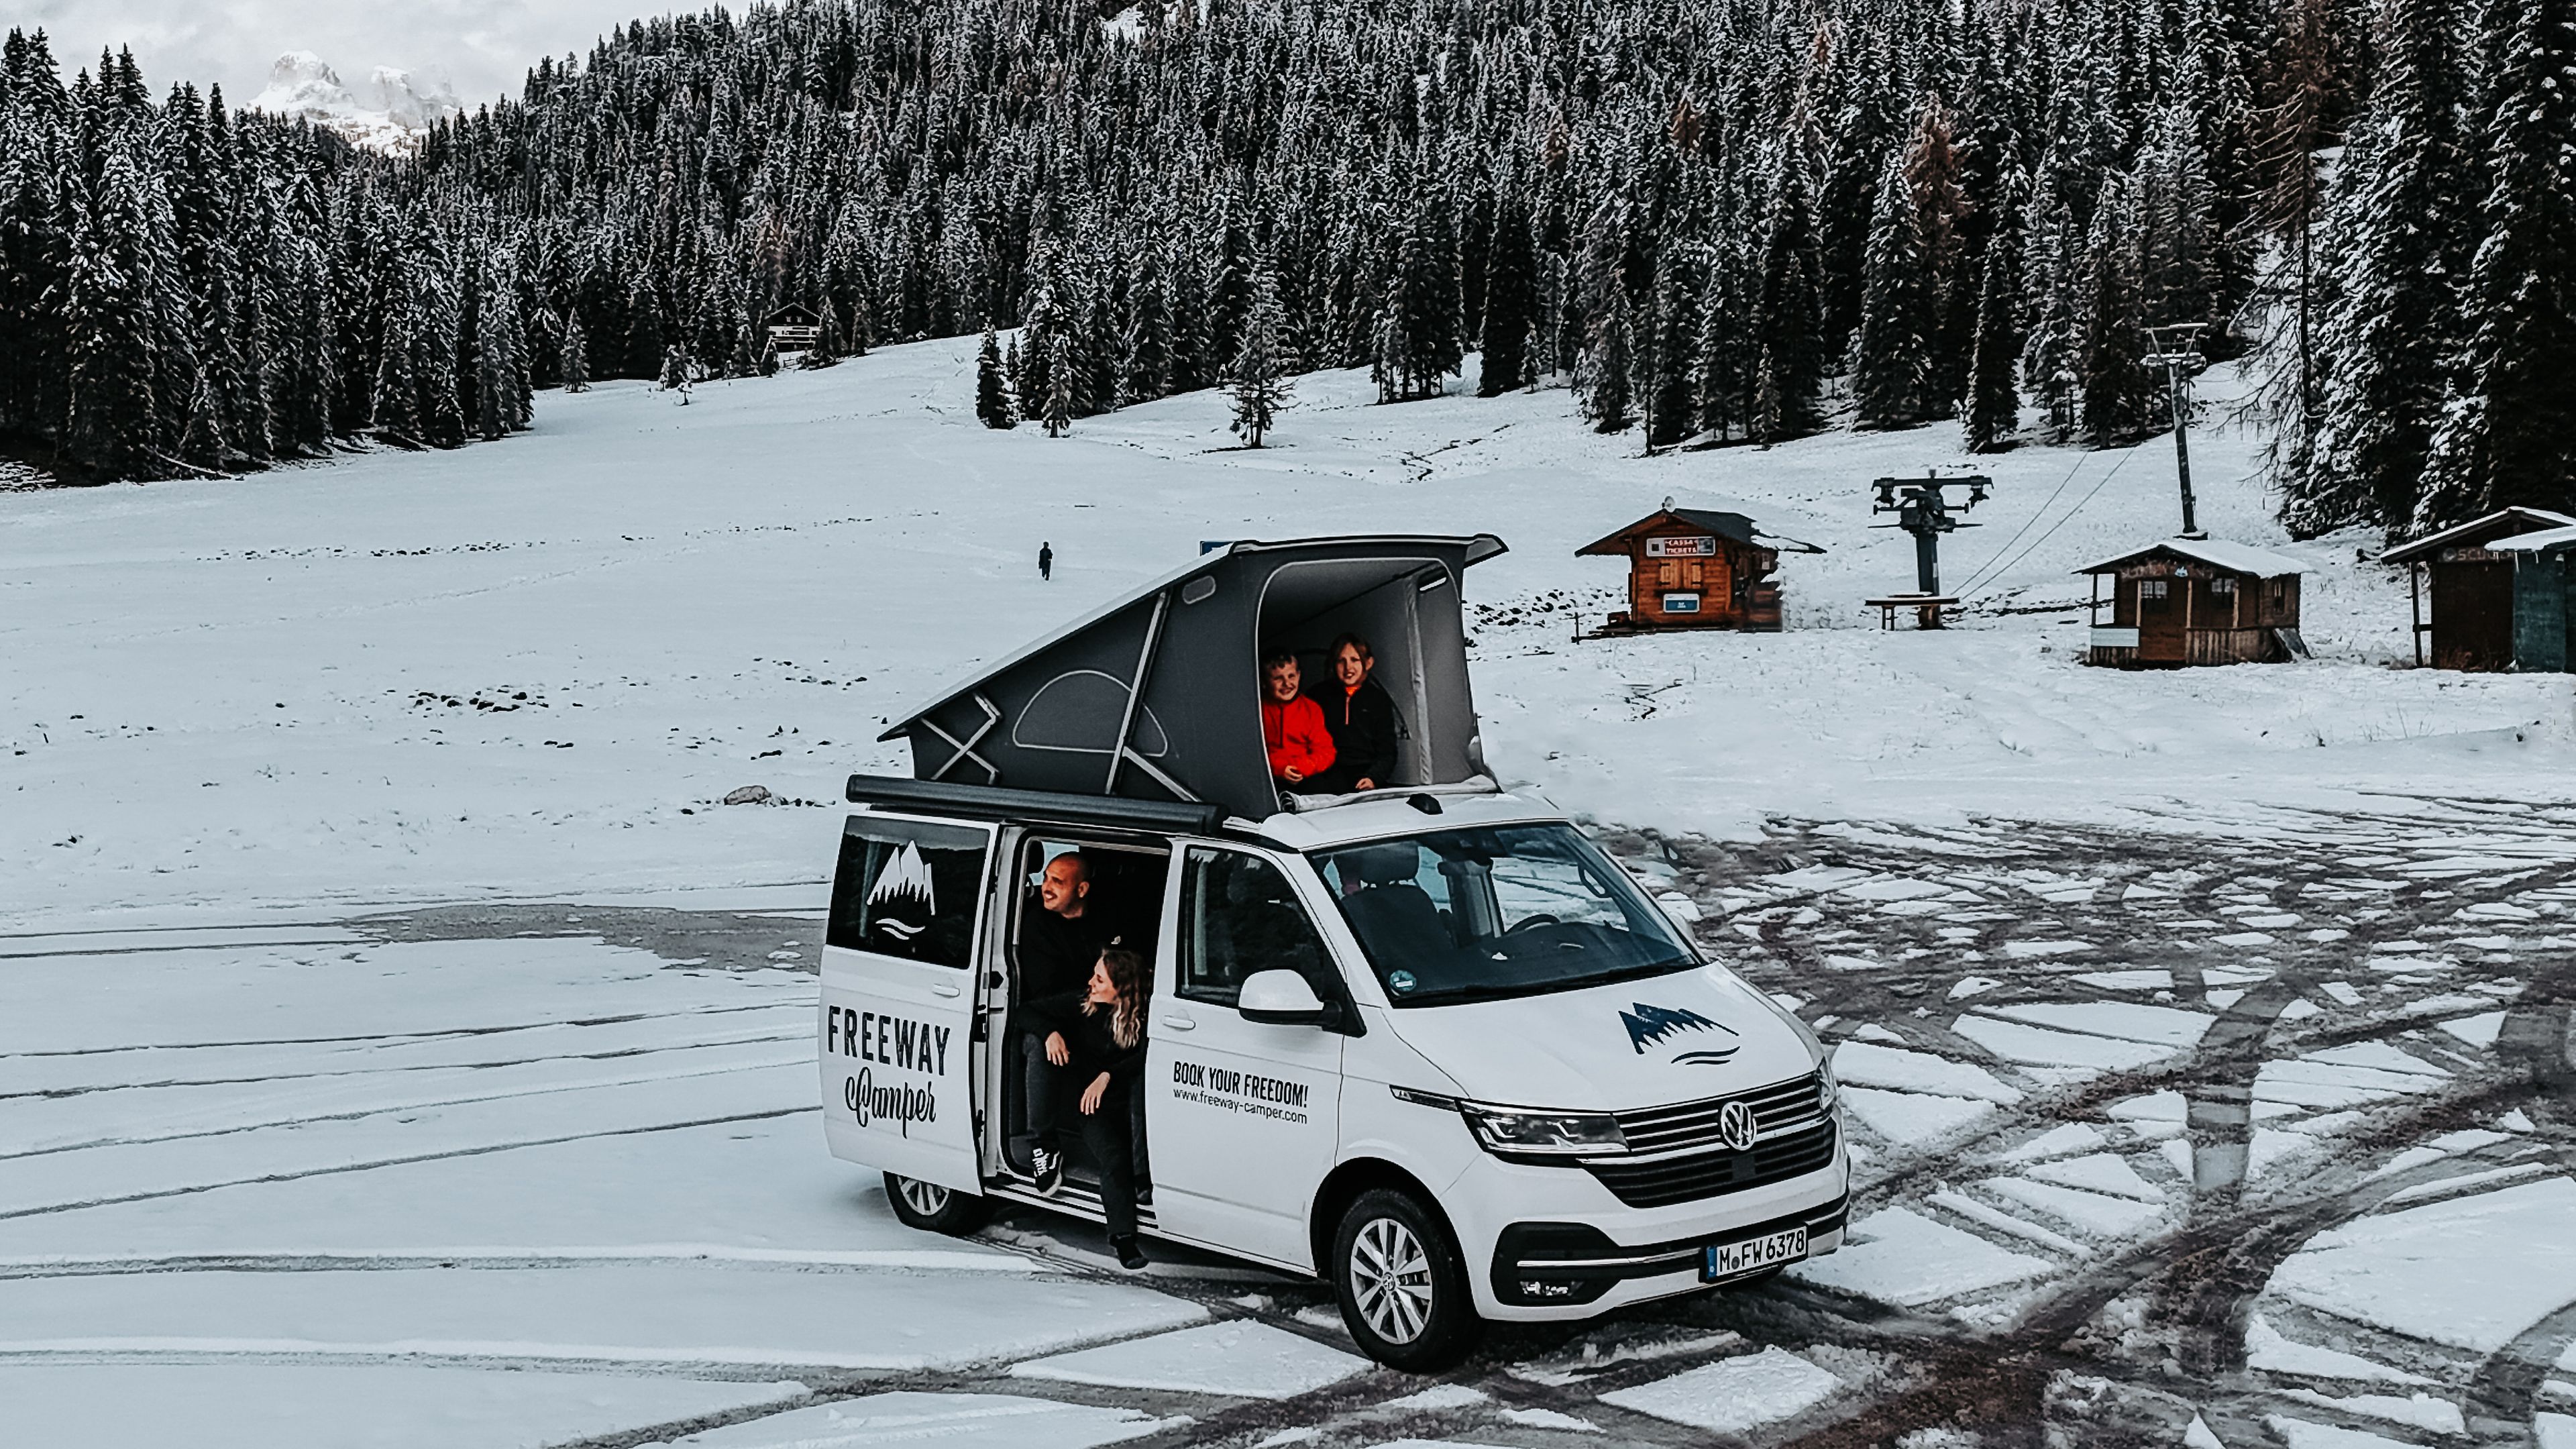
[[[1332,1289],[1360,1348],[1414,1374],[1450,1369],[1484,1320],[1448,1225],[1409,1191],[1370,1189],[1332,1235]]]

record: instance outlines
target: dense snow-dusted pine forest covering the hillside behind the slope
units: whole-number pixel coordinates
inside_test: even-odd
[[[0,446],[453,446],[592,376],[1010,330],[987,418],[1571,384],[1641,443],[2133,441],[2257,353],[2293,531],[2576,503],[2576,0],[809,0],[618,28],[410,157],[0,64]],[[675,353],[683,361],[675,364]],[[1257,441],[1260,428],[1249,428]]]

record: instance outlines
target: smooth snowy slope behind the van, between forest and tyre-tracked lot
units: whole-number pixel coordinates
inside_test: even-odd
[[[1911,588],[1911,539],[1868,480],[1968,464],[1947,425],[1638,459],[1566,392],[1378,407],[1319,374],[1244,451],[1218,394],[1046,438],[979,428],[971,382],[969,340],[917,343],[688,407],[549,394],[453,454],[0,492],[0,920],[814,882],[832,810],[714,802],[902,768],[886,717],[1200,539],[1365,529],[1512,544],[1468,580],[1486,755],[1605,822],[2218,828],[2576,779],[2568,681],[2391,670],[2403,578],[2354,562],[2367,539],[2285,544],[2236,431],[2195,438],[2200,518],[2316,570],[2318,657],[2117,673],[2076,663],[2069,570],[2174,529],[2164,438],[1973,459],[1996,492],[1945,578],[2022,531],[1978,603],[2038,611],[1880,634],[1860,598]],[[1574,642],[1623,588],[1574,547],[1667,495],[1826,549],[1783,559],[1788,632]]]

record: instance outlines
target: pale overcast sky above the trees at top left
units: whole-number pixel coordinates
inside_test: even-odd
[[[247,103],[278,52],[307,49],[366,80],[379,64],[443,77],[469,106],[518,93],[541,54],[587,52],[590,41],[670,0],[5,0],[0,31],[44,28],[64,80],[93,67],[100,46],[134,46],[144,80],[222,83]],[[680,8],[698,8],[688,0]]]

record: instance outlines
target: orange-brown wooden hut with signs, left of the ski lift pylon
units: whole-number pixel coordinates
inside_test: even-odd
[[[1664,505],[1574,557],[1628,559],[1628,608],[1602,634],[1643,629],[1780,629],[1780,552],[1821,554],[1816,544],[1775,539],[1744,513]]]

